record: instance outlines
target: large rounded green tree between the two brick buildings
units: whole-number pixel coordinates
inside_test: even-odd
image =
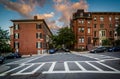
[[[64,27],[59,29],[58,35],[53,37],[54,43],[56,45],[61,45],[62,47],[71,48],[75,43],[75,36],[72,32],[72,29]]]

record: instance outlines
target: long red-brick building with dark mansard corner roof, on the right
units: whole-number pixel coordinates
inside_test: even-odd
[[[77,10],[71,20],[76,43],[75,49],[91,49],[108,39],[112,45],[117,40],[116,27],[120,25],[120,12],[84,12]]]

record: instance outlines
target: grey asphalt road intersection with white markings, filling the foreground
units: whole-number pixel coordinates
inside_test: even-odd
[[[4,64],[0,79],[120,79],[120,53],[59,52]]]

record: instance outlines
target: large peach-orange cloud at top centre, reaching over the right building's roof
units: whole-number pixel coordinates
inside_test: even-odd
[[[79,2],[73,3],[70,0],[53,0],[55,5],[54,8],[56,11],[61,12],[61,17],[59,18],[60,22],[63,22],[64,25],[68,25],[72,14],[78,9],[84,9],[87,11],[88,4],[86,0],[80,0]]]

